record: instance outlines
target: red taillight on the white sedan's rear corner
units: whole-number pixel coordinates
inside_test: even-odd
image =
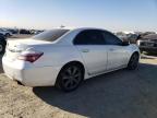
[[[43,55],[44,55],[44,52],[25,54],[25,55],[19,56],[17,59],[28,61],[28,62],[35,62]]]

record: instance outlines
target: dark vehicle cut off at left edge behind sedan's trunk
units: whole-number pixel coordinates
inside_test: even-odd
[[[4,52],[5,45],[7,45],[5,36],[3,34],[0,34],[0,55]]]

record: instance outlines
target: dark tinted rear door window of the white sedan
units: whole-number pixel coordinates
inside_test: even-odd
[[[87,30],[74,38],[74,45],[104,45],[105,39],[100,31]]]

